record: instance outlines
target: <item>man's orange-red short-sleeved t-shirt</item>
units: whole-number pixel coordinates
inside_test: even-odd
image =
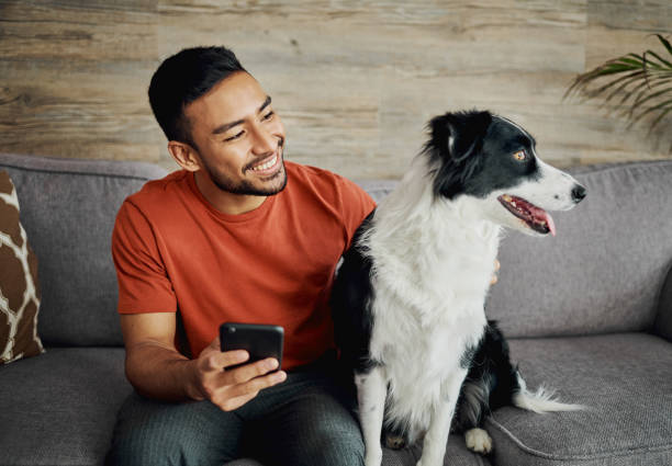
[[[287,187],[242,215],[216,211],[184,170],[128,196],[112,234],[119,312],[179,309],[193,357],[224,321],[284,327],[284,370],[333,348],[334,271],[374,203],[334,173],[285,169]]]

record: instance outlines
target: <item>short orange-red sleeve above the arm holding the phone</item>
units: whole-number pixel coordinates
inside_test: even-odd
[[[122,204],[114,223],[112,259],[116,268],[120,314],[177,310],[177,298],[155,231],[128,200]]]

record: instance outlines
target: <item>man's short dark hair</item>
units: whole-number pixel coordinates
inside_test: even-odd
[[[245,71],[226,47],[186,48],[158,67],[149,84],[149,104],[168,140],[195,148],[184,107],[210,91],[217,82]]]

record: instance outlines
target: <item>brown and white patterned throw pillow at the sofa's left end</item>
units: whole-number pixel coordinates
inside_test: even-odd
[[[0,362],[44,352],[37,337],[37,259],[19,221],[16,191],[0,171]]]

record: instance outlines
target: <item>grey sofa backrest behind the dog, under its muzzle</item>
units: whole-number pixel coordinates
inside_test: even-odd
[[[488,317],[509,337],[651,330],[672,264],[672,161],[568,171],[587,197],[552,214],[557,237],[506,234]],[[360,184],[378,200],[393,186]]]

